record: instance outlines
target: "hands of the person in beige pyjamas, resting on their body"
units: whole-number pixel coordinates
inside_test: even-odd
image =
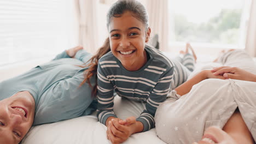
[[[236,68],[236,67],[219,67],[212,69],[214,75],[223,75],[225,79],[236,79],[243,81],[254,81],[256,82],[256,76],[249,73],[246,70]]]

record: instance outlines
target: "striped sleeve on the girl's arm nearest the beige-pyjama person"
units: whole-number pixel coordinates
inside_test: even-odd
[[[148,131],[155,127],[155,111],[158,106],[166,100],[172,85],[173,71],[174,67],[162,74],[152,93],[149,95],[146,109],[141,113],[141,116],[136,119],[136,121],[142,122],[144,126],[143,131]]]

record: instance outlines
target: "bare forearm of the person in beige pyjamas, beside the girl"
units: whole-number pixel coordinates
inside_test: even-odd
[[[199,74],[195,75],[193,78],[190,80],[184,82],[182,85],[178,86],[174,90],[177,92],[179,95],[184,95],[190,92],[191,88],[196,85],[197,83],[201,82],[202,80],[207,79],[206,76],[207,71],[203,70]]]

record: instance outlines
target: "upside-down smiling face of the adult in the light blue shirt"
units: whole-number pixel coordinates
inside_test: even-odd
[[[0,101],[0,143],[19,143],[34,120],[34,99],[19,92]]]

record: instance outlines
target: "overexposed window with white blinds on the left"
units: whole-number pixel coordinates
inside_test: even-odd
[[[78,43],[73,0],[0,0],[0,65],[56,55]]]

